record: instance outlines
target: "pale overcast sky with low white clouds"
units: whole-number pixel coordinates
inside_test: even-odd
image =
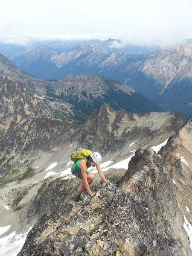
[[[122,39],[175,44],[192,38],[192,0],[0,0],[0,39]]]

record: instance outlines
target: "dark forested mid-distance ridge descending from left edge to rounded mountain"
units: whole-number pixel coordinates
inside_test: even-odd
[[[49,96],[52,100],[60,99],[72,104],[77,111],[80,111],[79,115],[76,113],[75,116],[77,119],[81,117],[82,122],[85,121],[86,115],[90,114],[94,108],[99,108],[104,102],[108,102],[112,108],[124,108],[131,113],[164,111],[163,108],[136,90],[117,81],[96,75],[70,75],[59,81],[46,81],[21,72],[3,55],[0,55],[0,63],[2,66],[0,70],[1,77],[26,84],[36,94],[37,92],[43,93],[44,96]],[[50,98],[49,101],[51,101]],[[85,114],[84,118],[82,113]],[[60,113],[56,113],[57,117],[59,115]],[[66,115],[64,114],[64,116]],[[73,122],[74,117],[71,116],[71,119]]]

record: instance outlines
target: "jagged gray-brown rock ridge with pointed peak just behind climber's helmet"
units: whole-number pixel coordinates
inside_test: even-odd
[[[158,121],[157,121],[158,120]],[[179,113],[151,112],[143,114],[113,110],[104,103],[94,110],[84,125],[72,136],[81,148],[93,148],[103,154],[128,150],[131,143],[139,147],[158,145],[162,137],[170,137],[183,124]]]

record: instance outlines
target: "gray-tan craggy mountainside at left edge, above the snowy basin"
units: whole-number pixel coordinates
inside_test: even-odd
[[[55,119],[44,99],[20,82],[0,78],[0,164],[52,150],[69,140],[77,125]],[[3,160],[2,160],[3,159]]]

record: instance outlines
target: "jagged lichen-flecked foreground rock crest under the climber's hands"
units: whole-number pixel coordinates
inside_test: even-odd
[[[118,185],[67,201],[29,232],[18,256],[190,255],[172,173],[151,149],[138,150]]]

